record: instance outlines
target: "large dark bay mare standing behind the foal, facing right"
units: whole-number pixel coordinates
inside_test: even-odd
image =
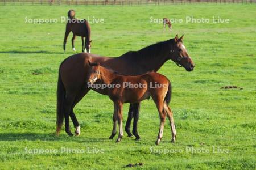
[[[102,57],[95,54],[80,53],[66,58],[59,67],[59,78],[57,83],[57,128],[56,135],[59,135],[65,117],[65,131],[73,135],[69,128],[69,115],[75,126],[75,135],[80,134],[80,126],[73,108],[88,93],[90,89],[100,94],[108,95],[106,89],[87,88],[88,71],[90,66],[88,60],[98,62],[101,66],[118,71],[126,75],[140,75],[151,71],[158,71],[168,60],[172,60],[178,66],[184,67],[187,71],[194,69],[194,63],[188,56],[187,49],[183,45],[183,36],[178,35],[174,39],[147,46],[138,51],[131,51],[120,57]],[[96,82],[97,84],[97,82]],[[137,122],[139,118],[139,103],[131,103],[125,131],[129,137],[131,120],[133,121],[133,135],[139,139]]]

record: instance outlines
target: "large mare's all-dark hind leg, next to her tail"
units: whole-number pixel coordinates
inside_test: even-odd
[[[64,102],[65,131],[69,136],[73,136],[69,127],[69,113],[71,112],[75,96],[74,92],[67,92]]]

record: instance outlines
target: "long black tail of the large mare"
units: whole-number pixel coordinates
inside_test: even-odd
[[[64,61],[63,61],[64,62]],[[62,63],[61,63],[62,65]],[[60,65],[60,67],[61,67]],[[64,121],[64,100],[65,100],[65,87],[63,85],[63,81],[61,80],[60,76],[60,69],[59,69],[59,78],[58,78],[58,83],[57,83],[57,129],[56,129],[56,134],[59,135],[61,126],[63,125]]]

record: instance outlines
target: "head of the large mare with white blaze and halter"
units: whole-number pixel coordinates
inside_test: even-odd
[[[183,35],[179,38],[175,36],[174,44],[171,45],[170,59],[180,67],[184,67],[187,71],[192,71],[195,67],[192,58],[189,57],[187,49],[183,45]]]

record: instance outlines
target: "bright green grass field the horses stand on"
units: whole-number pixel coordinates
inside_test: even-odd
[[[92,53],[104,56],[120,56],[184,33],[184,45],[196,63],[195,70],[188,73],[171,61],[159,70],[172,82],[175,144],[170,142],[168,121],[162,142],[154,144],[159,116],[152,100],[141,104],[141,141],[128,138],[126,133],[120,143],[109,140],[113,104],[107,96],[93,91],[75,108],[81,135],[68,137],[64,128],[60,137],[53,135],[59,65],[75,53],[71,35],[67,52],[62,49],[65,23],[60,22],[60,16],[66,16],[70,8],[76,10],[77,18],[104,19],[104,23],[90,23]],[[0,9],[0,169],[119,169],[130,163],[143,163],[134,169],[255,169],[254,4]],[[162,23],[150,23],[151,16],[183,22],[174,23],[172,32],[163,32]],[[209,18],[210,22],[185,23],[186,16]],[[212,23],[213,16],[231,21]],[[56,18],[59,22],[25,23],[26,17]],[[80,37],[75,46],[81,52]],[[221,89],[224,86],[243,89]],[[124,108],[124,124],[128,107],[126,104]],[[63,152],[61,148],[85,153]],[[192,148],[196,151],[189,151]],[[39,149],[44,153],[31,154],[31,150]],[[54,152],[47,153],[49,150]]]

